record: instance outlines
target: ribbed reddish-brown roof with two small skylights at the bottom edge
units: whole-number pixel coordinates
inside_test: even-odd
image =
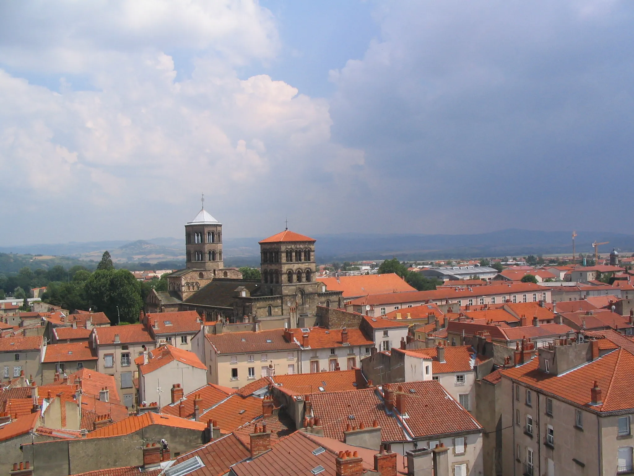
[[[313,454],[319,447],[302,432],[282,438],[270,451],[256,458],[231,466],[236,476],[291,476],[311,475],[317,466],[324,468],[320,475],[335,476],[335,455],[326,450]]]

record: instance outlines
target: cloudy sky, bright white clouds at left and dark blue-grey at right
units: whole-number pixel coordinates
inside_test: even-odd
[[[634,4],[0,3],[0,245],[634,233]]]

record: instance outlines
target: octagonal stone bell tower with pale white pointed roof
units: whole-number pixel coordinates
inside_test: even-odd
[[[223,224],[209,215],[203,206],[185,225],[186,268],[217,270],[223,264]],[[214,273],[215,274],[215,273]]]

